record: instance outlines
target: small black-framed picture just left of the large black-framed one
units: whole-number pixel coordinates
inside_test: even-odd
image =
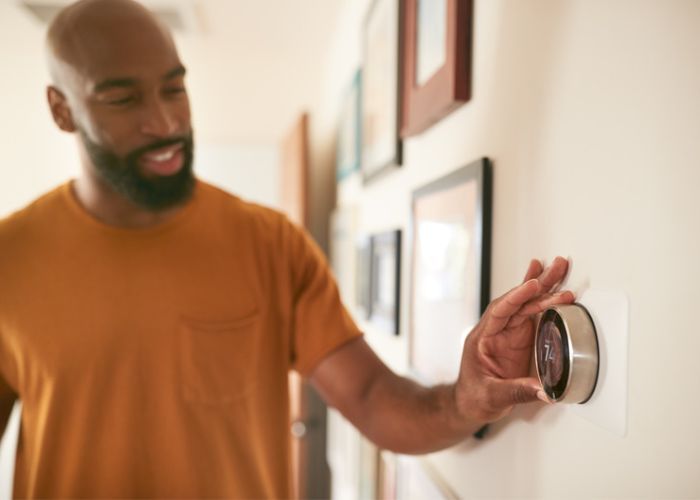
[[[399,334],[401,230],[372,236],[369,319],[381,329]]]

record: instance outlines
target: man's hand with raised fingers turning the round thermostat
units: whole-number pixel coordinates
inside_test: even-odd
[[[492,422],[514,405],[543,398],[539,381],[529,377],[535,315],[575,300],[570,291],[555,292],[569,262],[557,257],[543,269],[530,262],[523,284],[493,300],[466,341],[455,403],[461,419]]]

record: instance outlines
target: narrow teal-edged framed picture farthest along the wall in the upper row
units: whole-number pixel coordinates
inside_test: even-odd
[[[338,151],[336,156],[336,180],[342,181],[360,169],[362,155],[362,72],[357,70],[345,96],[338,127]]]

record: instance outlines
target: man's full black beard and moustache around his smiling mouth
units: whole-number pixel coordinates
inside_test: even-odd
[[[157,212],[180,205],[192,196],[195,186],[192,173],[194,156],[192,132],[183,137],[151,143],[130,152],[123,158],[92,142],[84,131],[81,130],[80,135],[100,178],[116,193],[134,204]],[[169,176],[145,177],[139,169],[138,160],[141,155],[173,144],[182,144],[182,168]]]

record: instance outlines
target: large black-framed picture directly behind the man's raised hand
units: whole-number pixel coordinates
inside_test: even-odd
[[[454,382],[466,335],[489,301],[491,168],[478,160],[414,191],[409,365]]]

